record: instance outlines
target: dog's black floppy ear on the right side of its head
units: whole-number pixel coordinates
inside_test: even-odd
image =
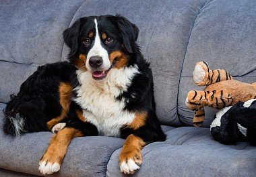
[[[133,53],[132,46],[138,38],[139,29],[135,24],[131,23],[125,17],[120,15],[117,15],[116,17],[117,27],[119,29],[121,38],[123,39],[123,45],[129,53]]]

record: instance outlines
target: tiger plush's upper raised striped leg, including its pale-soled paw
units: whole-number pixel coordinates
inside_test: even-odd
[[[210,85],[222,80],[232,79],[232,76],[226,70],[210,70],[206,62],[198,62],[193,72],[193,80],[198,86]]]

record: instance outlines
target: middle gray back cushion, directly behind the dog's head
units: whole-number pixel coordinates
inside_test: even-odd
[[[202,5],[193,0],[88,0],[75,13],[72,23],[79,17],[105,14],[121,14],[135,23],[139,27],[137,43],[151,62],[158,117],[162,124],[181,125],[177,114],[180,75],[195,11]],[[67,52],[65,46],[62,56]]]

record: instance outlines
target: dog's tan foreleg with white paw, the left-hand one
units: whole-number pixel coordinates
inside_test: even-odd
[[[61,129],[56,135],[53,136],[49,147],[47,148],[44,156],[39,162],[39,170],[42,174],[52,174],[58,172],[61,168],[61,163],[67,147],[73,137],[82,136],[82,132],[74,128]]]

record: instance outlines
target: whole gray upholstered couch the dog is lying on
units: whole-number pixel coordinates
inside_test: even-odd
[[[119,13],[140,29],[137,42],[152,63],[157,113],[167,135],[143,148],[134,176],[256,176],[255,147],[214,141],[209,126],[216,110],[207,108],[203,127],[196,128],[185,106],[188,91],[202,89],[191,77],[199,60],[225,68],[237,80],[256,81],[255,7],[255,0],[1,0],[0,109],[37,66],[66,60],[62,32],[75,19]],[[13,138],[0,130],[0,176],[40,176],[38,161],[51,136]],[[125,176],[118,162],[123,141],[75,138],[52,176]]]

